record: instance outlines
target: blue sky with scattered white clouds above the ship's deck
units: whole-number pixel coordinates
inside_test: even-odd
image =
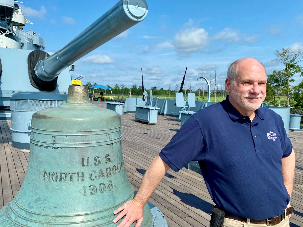
[[[75,38],[118,1],[24,0],[26,25],[55,52]],[[282,48],[303,50],[303,1],[159,1],[147,0],[148,15],[134,27],[76,61],[72,78],[114,86],[141,85],[175,89],[199,88],[197,77],[217,72],[224,86],[228,65],[239,58],[256,58],[268,73],[282,65],[272,61]],[[301,63],[302,65],[302,63]],[[302,81],[296,75],[293,85]],[[213,89],[213,87],[212,87]]]

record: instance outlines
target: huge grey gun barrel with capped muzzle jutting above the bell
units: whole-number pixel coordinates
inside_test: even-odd
[[[42,81],[54,80],[78,59],[144,20],[147,13],[145,0],[120,0],[65,47],[39,61],[35,75]]]

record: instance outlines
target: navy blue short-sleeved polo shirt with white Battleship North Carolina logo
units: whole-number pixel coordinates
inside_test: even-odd
[[[291,151],[278,114],[260,107],[251,122],[227,97],[189,117],[159,155],[176,172],[199,161],[216,205],[242,217],[266,219],[282,214],[290,200],[281,158]]]

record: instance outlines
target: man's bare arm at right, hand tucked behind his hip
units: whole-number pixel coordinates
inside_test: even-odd
[[[291,154],[288,157],[282,158],[282,175],[284,179],[284,185],[289,196],[291,196],[292,188],[294,187],[295,164],[296,156],[294,149],[292,149]],[[290,201],[287,205],[287,208],[288,207],[290,207]],[[290,217],[290,215],[288,215],[288,217]]]

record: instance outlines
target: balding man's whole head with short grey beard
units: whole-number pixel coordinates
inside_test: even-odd
[[[257,110],[266,96],[266,72],[254,58],[243,58],[228,67],[225,90],[240,113]]]

